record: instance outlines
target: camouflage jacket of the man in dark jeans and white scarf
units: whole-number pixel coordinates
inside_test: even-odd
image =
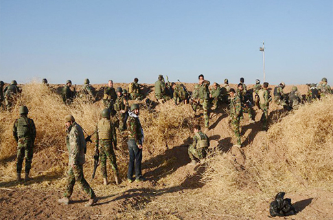
[[[143,144],[143,130],[135,113],[130,113],[127,120],[127,129],[129,131],[128,140],[135,140],[135,143]]]

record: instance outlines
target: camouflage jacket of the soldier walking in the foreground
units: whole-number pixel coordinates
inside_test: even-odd
[[[81,126],[73,122],[66,131],[66,144],[69,153],[68,164],[82,165],[85,163],[86,141]]]

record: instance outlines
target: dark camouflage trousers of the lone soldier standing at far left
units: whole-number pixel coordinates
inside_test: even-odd
[[[24,144],[24,146],[17,147],[17,162],[16,162],[16,173],[21,173],[23,159],[25,158],[25,173],[29,173],[31,169],[32,156],[34,155],[34,144],[31,141]]]

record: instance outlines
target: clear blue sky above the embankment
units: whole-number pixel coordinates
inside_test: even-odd
[[[333,85],[333,1],[0,0],[0,80]]]

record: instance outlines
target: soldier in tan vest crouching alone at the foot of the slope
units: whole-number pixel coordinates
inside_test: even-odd
[[[205,133],[201,132],[200,125],[196,124],[193,131],[193,142],[188,148],[188,154],[191,159],[191,164],[196,165],[196,159],[200,160],[206,157],[209,139]]]

